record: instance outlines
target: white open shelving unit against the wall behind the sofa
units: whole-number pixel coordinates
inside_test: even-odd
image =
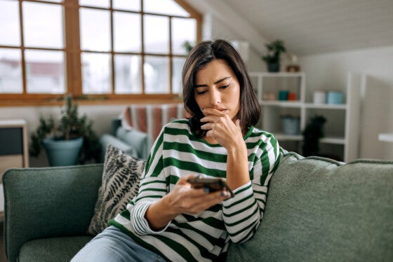
[[[321,155],[348,162],[358,156],[361,76],[349,73],[343,104],[314,104],[312,90],[305,86],[304,73],[251,72],[251,82],[262,107],[260,127],[277,137],[289,151],[302,153],[302,131],[316,114],[326,118],[325,137],[320,140]],[[290,100],[281,95],[289,93]],[[281,98],[281,99],[280,99]],[[312,98],[311,98],[312,99]],[[298,132],[284,132],[283,116],[298,118]]]

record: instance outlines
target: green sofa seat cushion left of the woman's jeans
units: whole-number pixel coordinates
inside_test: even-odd
[[[20,249],[19,262],[68,262],[92,238],[76,236],[32,240]]]

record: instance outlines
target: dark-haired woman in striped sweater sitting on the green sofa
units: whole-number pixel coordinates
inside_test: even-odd
[[[253,127],[260,105],[244,62],[227,41],[201,42],[182,83],[190,118],[164,126],[138,195],[74,261],[221,261],[258,228],[279,145]],[[225,178],[234,197],[192,188],[195,176]]]

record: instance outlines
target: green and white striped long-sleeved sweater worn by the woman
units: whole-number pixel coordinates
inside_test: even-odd
[[[218,261],[229,240],[244,242],[258,228],[268,182],[279,162],[279,144],[273,135],[251,127],[244,140],[251,182],[236,188],[234,198],[197,216],[180,214],[157,232],[145,219],[147,207],[173,190],[180,177],[226,177],[224,147],[197,139],[186,119],[168,123],[154,142],[138,195],[111,224],[169,261]]]

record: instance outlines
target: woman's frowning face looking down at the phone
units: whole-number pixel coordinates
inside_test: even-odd
[[[224,60],[213,60],[196,72],[194,97],[200,109],[217,109],[237,120],[240,109],[240,86]]]

